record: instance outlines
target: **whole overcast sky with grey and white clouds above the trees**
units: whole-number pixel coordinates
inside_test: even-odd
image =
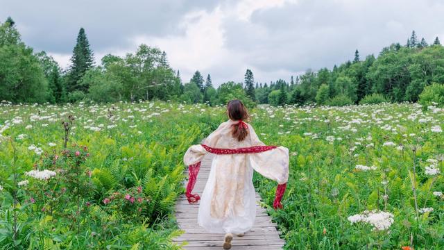
[[[199,70],[214,85],[289,80],[307,69],[332,68],[377,53],[392,42],[444,42],[441,0],[0,0],[0,20],[12,17],[26,44],[51,54],[62,67],[80,27],[97,62],[124,56],[139,44],[167,52],[188,82]]]

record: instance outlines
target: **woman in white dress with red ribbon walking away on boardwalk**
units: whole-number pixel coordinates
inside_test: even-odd
[[[228,102],[230,118],[211,133],[200,145],[189,147],[184,163],[189,165],[187,197],[196,203],[200,197],[191,194],[200,161],[206,153],[216,153],[210,176],[203,190],[198,211],[198,224],[210,233],[225,233],[223,249],[231,248],[232,233],[244,235],[253,227],[256,216],[253,169],[278,181],[275,208],[282,208],[280,199],[288,179],[289,151],[285,147],[265,146],[246,120],[248,111],[239,100]]]

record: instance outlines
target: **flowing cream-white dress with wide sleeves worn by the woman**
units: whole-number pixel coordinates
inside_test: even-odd
[[[238,142],[231,135],[231,125],[237,121],[223,122],[203,142],[209,147],[236,149],[264,145],[248,124],[248,135]],[[207,151],[200,146],[189,147],[184,163],[198,163]],[[201,195],[198,224],[211,233],[245,233],[253,227],[256,217],[253,169],[266,178],[287,183],[289,150],[278,147],[261,153],[216,155],[210,176]]]

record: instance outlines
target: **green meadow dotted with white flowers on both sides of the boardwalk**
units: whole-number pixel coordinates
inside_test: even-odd
[[[284,209],[255,176],[287,249],[444,249],[444,110],[418,104],[250,110],[288,147]],[[182,156],[224,107],[0,105],[3,249],[179,249]],[[65,147],[66,142],[66,147]]]

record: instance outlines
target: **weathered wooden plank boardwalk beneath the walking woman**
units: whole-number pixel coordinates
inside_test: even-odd
[[[207,154],[200,165],[200,172],[193,190],[193,192],[199,195],[202,195],[205,183],[207,183],[212,158],[211,154]],[[257,201],[261,199],[257,192],[256,199]],[[234,235],[231,249],[282,249],[284,240],[279,237],[276,224],[271,222],[271,218],[266,213],[266,210],[259,206],[259,204],[256,205],[256,209],[255,226],[244,237]],[[197,214],[198,205],[189,204],[185,195],[182,194],[176,203],[176,219],[180,229],[185,231],[185,233],[173,241],[178,244],[188,242],[184,247],[187,250],[222,249],[224,235],[220,233],[207,233],[205,229],[197,224]]]

